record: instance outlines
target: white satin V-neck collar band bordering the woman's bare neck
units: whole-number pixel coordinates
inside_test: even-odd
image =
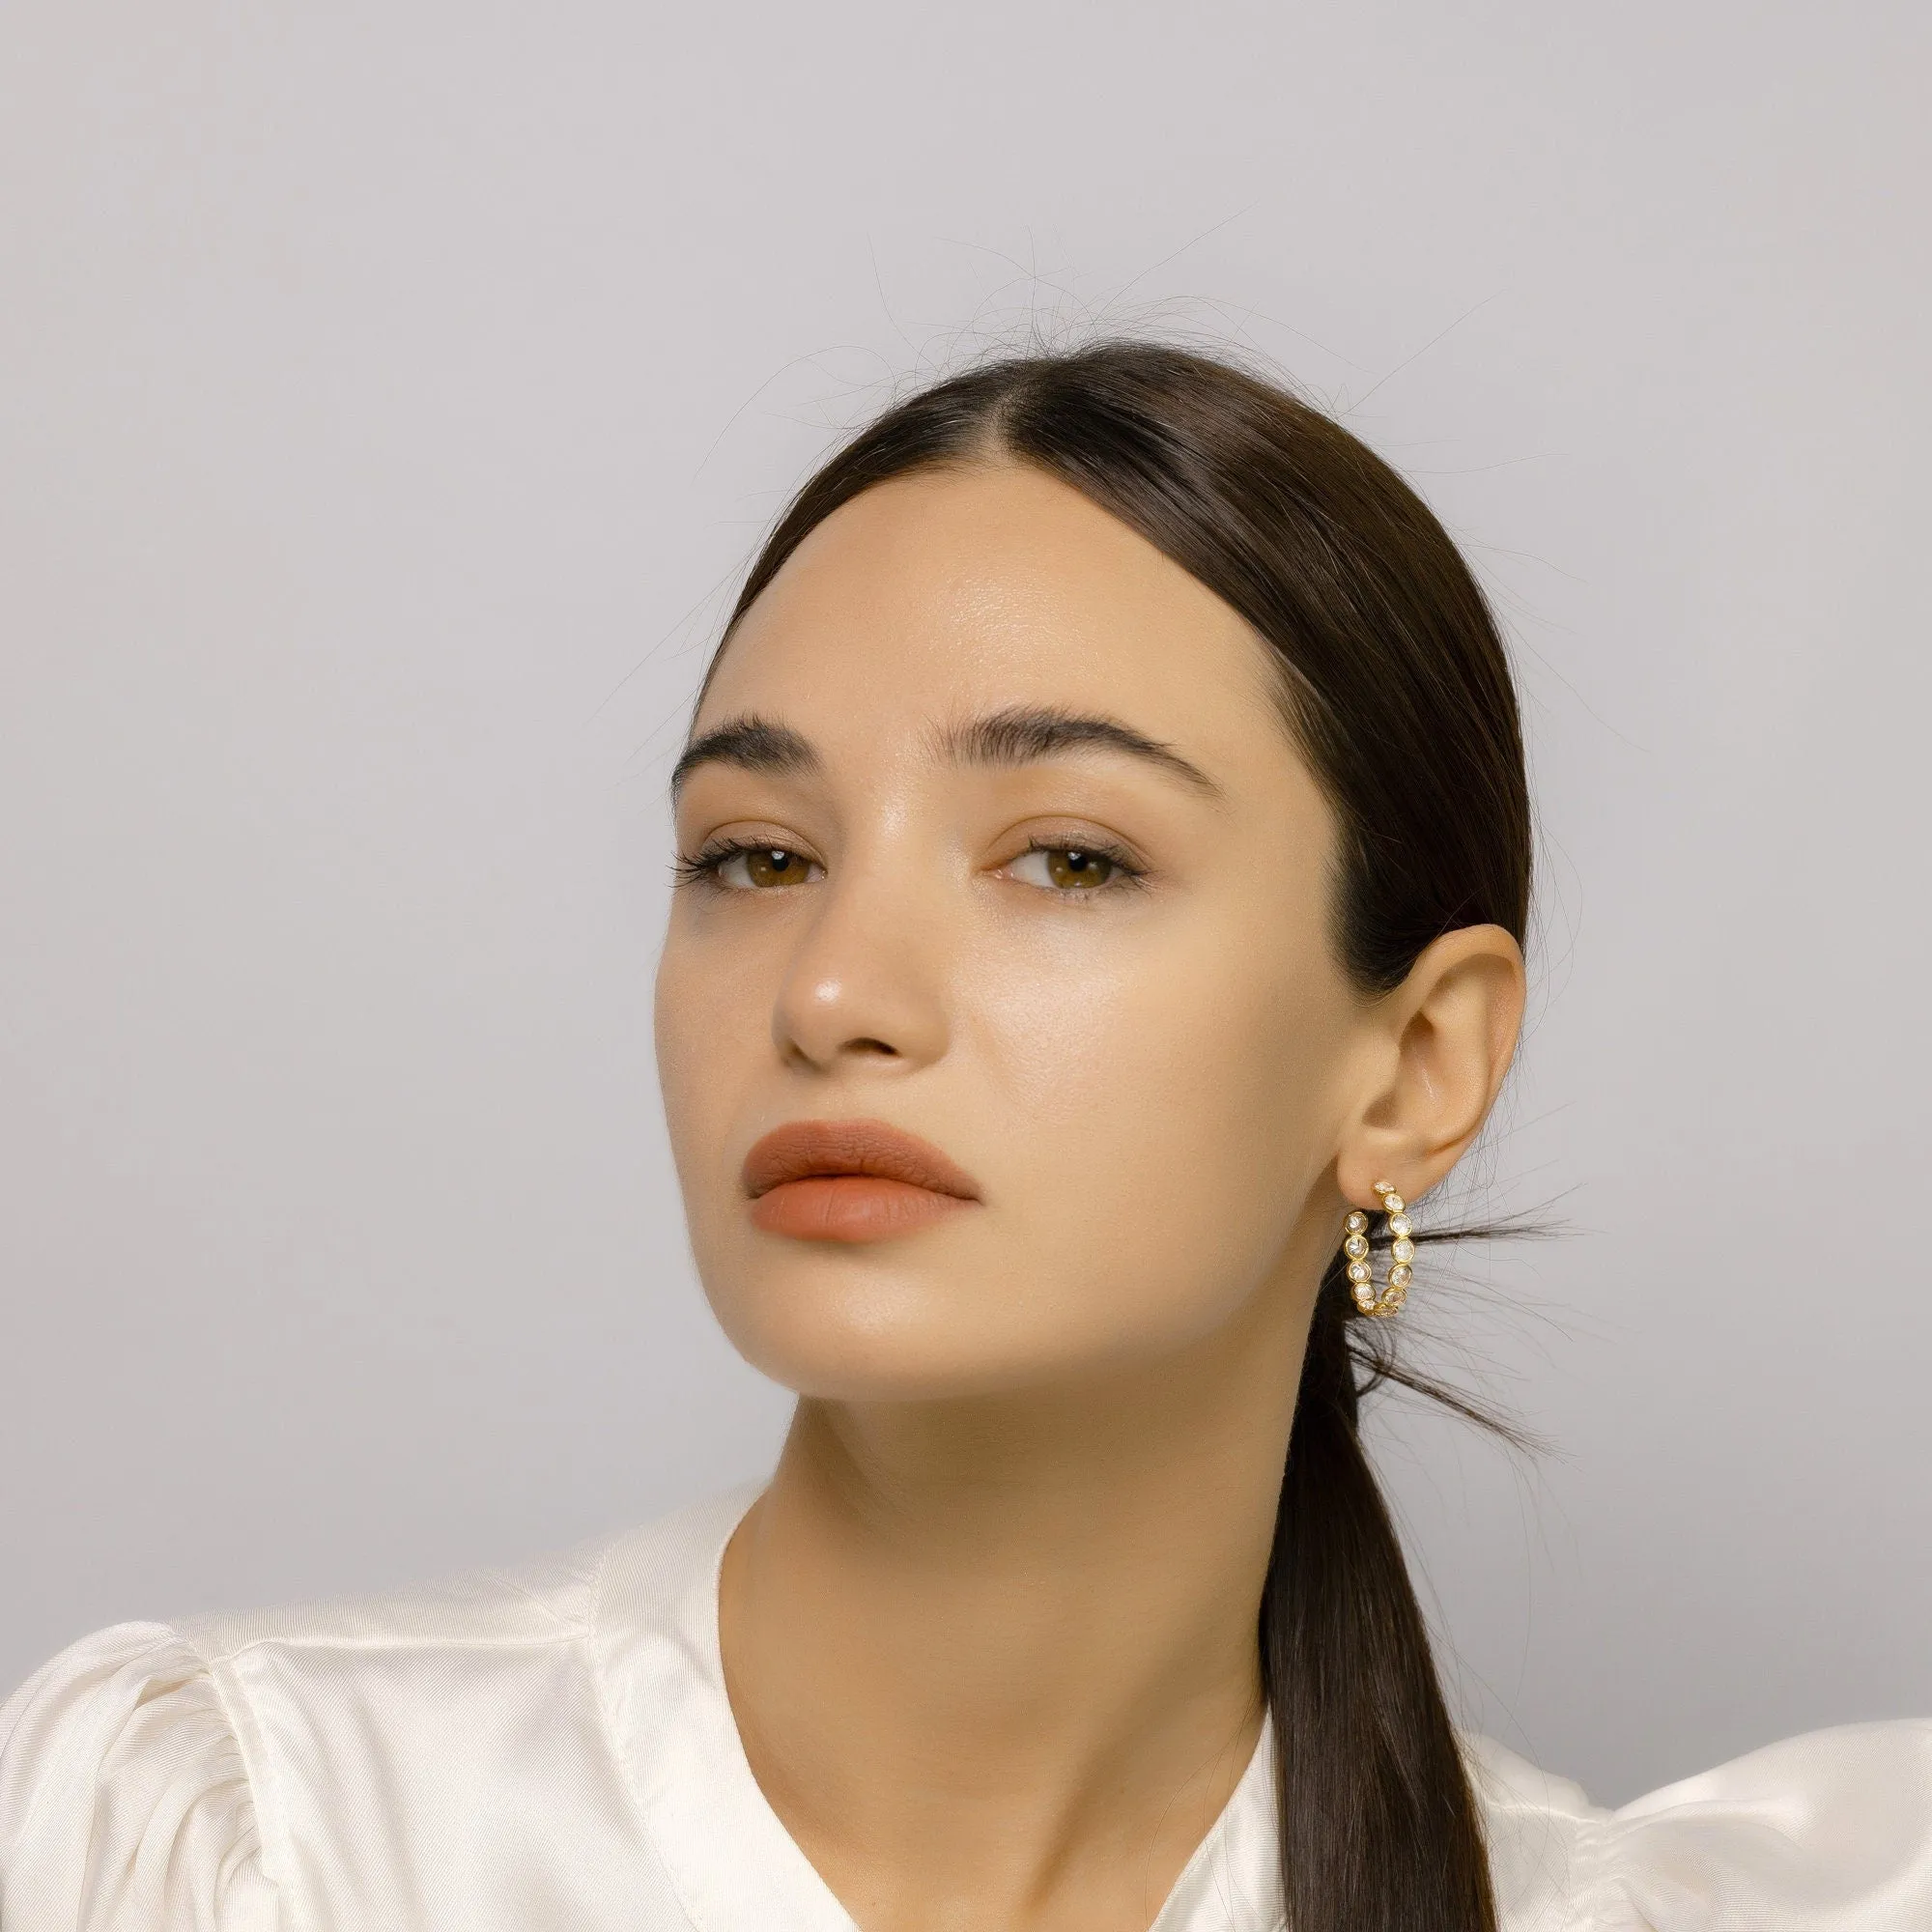
[[[761,1492],[728,1490],[611,1548],[593,1642],[612,1748],[696,1932],[856,1932],[752,1776],[724,1692],[719,1569]],[[1281,1932],[1271,1747],[1264,1719],[1148,1932]]]

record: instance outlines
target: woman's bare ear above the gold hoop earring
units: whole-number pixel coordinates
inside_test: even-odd
[[[1349,1202],[1374,1208],[1378,1180],[1414,1202],[1455,1167],[1509,1072],[1524,991],[1522,947],[1501,925],[1459,925],[1370,1010],[1372,1072],[1335,1163]]]

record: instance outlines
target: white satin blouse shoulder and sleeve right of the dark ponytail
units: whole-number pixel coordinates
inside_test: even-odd
[[[1932,1932],[1932,1719],[1791,1737],[1617,1810],[1474,1758],[1505,1932]]]

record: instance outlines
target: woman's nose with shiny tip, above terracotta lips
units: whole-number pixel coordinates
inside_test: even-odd
[[[929,1066],[947,1051],[947,908],[889,854],[821,881],[773,1003],[781,1059]]]

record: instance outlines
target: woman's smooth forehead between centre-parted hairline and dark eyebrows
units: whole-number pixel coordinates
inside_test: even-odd
[[[837,752],[1072,705],[1219,763],[1279,761],[1267,647],[1213,591],[1024,466],[927,471],[829,516],[746,612],[696,730],[782,715]]]

